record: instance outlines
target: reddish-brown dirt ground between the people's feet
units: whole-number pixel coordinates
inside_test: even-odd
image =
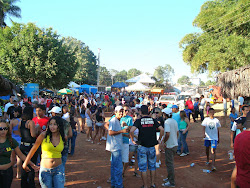
[[[107,116],[106,116],[107,117]],[[222,118],[219,118],[223,121]],[[228,118],[229,119],[229,118]],[[108,120],[108,118],[106,118]],[[226,188],[230,187],[230,176],[234,168],[234,161],[229,160],[230,131],[229,128],[220,129],[220,143],[217,148],[216,172],[204,173],[203,169],[210,169],[205,165],[206,154],[203,146],[201,122],[191,123],[187,136],[190,154],[185,157],[175,156],[175,176],[177,188]],[[227,123],[230,126],[229,121]],[[86,134],[78,134],[75,155],[68,157],[66,164],[66,187],[68,188],[108,188],[110,184],[110,153],[105,151],[105,141],[101,145],[86,142]],[[167,177],[164,154],[161,155],[162,165],[156,171],[156,185],[162,187],[162,179]],[[190,167],[195,163],[194,167]],[[15,170],[14,170],[15,171]],[[149,175],[149,173],[148,173]],[[37,187],[39,186],[36,176]],[[149,177],[148,177],[149,181]],[[133,176],[133,169],[128,168],[124,177],[126,188],[139,188],[141,178]],[[12,188],[20,187],[20,180],[13,179]]]

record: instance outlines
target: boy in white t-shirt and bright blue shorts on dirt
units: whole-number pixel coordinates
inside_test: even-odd
[[[209,149],[211,147],[212,154],[212,171],[215,171],[215,151],[217,147],[217,143],[219,143],[219,127],[220,121],[217,118],[214,118],[214,109],[210,108],[208,110],[209,117],[205,118],[201,125],[203,126],[203,134],[204,134],[204,146],[206,146],[206,155],[207,162],[209,164]]]

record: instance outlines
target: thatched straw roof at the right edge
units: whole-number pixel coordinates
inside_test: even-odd
[[[224,98],[236,99],[250,96],[250,65],[217,76]]]

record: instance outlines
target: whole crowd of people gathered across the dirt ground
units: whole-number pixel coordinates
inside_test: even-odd
[[[111,153],[111,177],[108,180],[111,187],[123,187],[123,178],[132,163],[134,176],[142,178],[142,188],[156,187],[155,171],[161,166],[163,152],[168,176],[163,179],[162,186],[175,187],[174,156],[189,155],[186,138],[191,115],[193,122],[197,122],[200,115],[206,165],[210,165],[211,152],[211,170],[215,171],[221,124],[214,117],[215,110],[209,102],[203,95],[194,102],[190,97],[185,101],[185,109],[180,111],[177,105],[156,103],[158,98],[158,95],[133,92],[81,93],[79,96],[53,98],[10,96],[9,102],[0,109],[0,187],[11,186],[13,166],[16,166],[16,178],[21,179],[23,188],[35,187],[35,172],[38,170],[41,187],[64,187],[65,164],[68,155],[74,155],[77,135],[81,133],[86,134],[86,142],[92,144],[106,140],[106,150]],[[109,120],[105,117],[106,111],[113,113]],[[207,117],[204,117],[204,112]],[[246,138],[242,138],[243,141],[238,139],[238,142],[237,138],[240,132],[249,130],[249,107],[242,106],[243,115],[240,117],[234,107],[231,112],[231,147],[238,156],[235,157],[236,164],[237,159],[240,161],[232,173],[232,186],[246,187],[250,183],[246,178],[249,169],[246,170],[242,160],[249,167],[249,159],[242,157],[245,156],[241,153],[244,148],[239,144]],[[147,169],[150,171],[150,186],[147,184]]]

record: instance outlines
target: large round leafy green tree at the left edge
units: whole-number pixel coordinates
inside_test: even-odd
[[[15,83],[39,83],[62,88],[78,67],[75,52],[63,44],[52,28],[33,23],[0,29],[0,74]]]

